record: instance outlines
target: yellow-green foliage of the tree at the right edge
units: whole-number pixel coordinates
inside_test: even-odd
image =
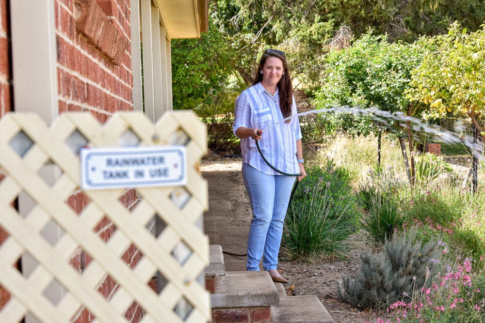
[[[424,60],[412,74],[411,86],[407,97],[429,105],[430,117],[453,113],[483,133],[485,25],[467,33],[453,23],[448,34],[431,39]]]

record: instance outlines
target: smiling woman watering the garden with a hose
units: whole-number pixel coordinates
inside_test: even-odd
[[[285,53],[268,49],[259,62],[253,85],[236,99],[234,134],[241,138],[242,177],[253,219],[247,242],[247,270],[263,268],[274,281],[287,283],[276,270],[288,203],[295,177],[282,175],[261,157],[259,148],[276,169],[290,174],[307,173],[303,167],[301,131]],[[267,130],[267,127],[294,116]]]

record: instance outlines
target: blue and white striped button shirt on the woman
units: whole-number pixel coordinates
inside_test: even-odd
[[[278,123],[274,127],[266,129],[284,118],[279,108],[278,89],[274,95],[271,95],[261,83],[258,83],[244,90],[236,99],[232,130],[234,135],[239,127],[264,130],[259,139],[259,148],[264,157],[275,168],[286,173],[297,174],[300,172],[300,168],[296,161],[296,140],[302,138],[297,113],[293,97],[291,115],[295,117],[291,119],[291,122]],[[241,139],[241,153],[243,163],[249,164],[265,174],[281,175],[263,160],[254,139]]]

